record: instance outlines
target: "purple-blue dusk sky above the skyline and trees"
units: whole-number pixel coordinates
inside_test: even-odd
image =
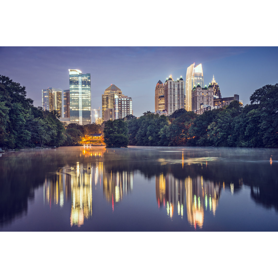
[[[202,63],[205,85],[214,75],[222,97],[238,94],[244,105],[256,89],[278,82],[278,47],[1,47],[0,61],[0,74],[26,86],[34,106],[42,89],[69,89],[68,69],[80,69],[91,73],[93,109],[115,84],[132,97],[135,116],[154,111],[158,80],[185,80],[194,62]]]

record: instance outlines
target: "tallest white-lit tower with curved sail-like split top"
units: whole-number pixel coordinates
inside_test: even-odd
[[[203,68],[202,64],[198,64],[194,67],[191,64],[186,71],[185,79],[185,109],[187,111],[192,111],[191,107],[191,91],[194,86],[200,85],[201,88],[204,86]]]

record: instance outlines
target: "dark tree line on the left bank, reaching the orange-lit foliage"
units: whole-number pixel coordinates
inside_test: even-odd
[[[57,111],[43,111],[26,98],[26,88],[0,75],[0,147],[15,149],[36,145],[60,147],[81,145],[82,138],[101,133],[101,125],[65,126]]]

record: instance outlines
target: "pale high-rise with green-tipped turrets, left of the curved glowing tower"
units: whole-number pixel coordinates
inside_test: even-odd
[[[172,75],[166,79],[165,87],[165,108],[168,115],[174,111],[184,108],[184,81],[182,77],[174,81]]]

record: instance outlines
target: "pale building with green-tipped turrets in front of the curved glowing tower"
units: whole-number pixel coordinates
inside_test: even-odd
[[[192,111],[195,113],[199,113],[198,111],[201,109],[201,105],[214,106],[213,99],[213,87],[210,84],[209,87],[205,86],[205,88],[201,88],[198,84],[197,87],[193,87],[192,89]]]

